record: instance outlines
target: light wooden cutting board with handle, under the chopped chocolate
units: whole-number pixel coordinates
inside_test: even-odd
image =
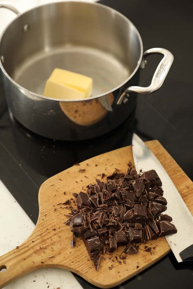
[[[157,140],[146,144],[164,166],[190,212],[193,213],[192,181]],[[74,199],[72,193],[86,190],[89,183],[95,182],[96,178],[100,179],[98,174],[109,175],[115,168],[125,172],[129,161],[133,163],[131,146],[98,155],[45,181],[39,190],[39,217],[33,233],[19,248],[0,257],[0,271],[7,268],[6,271],[0,272],[0,288],[15,278],[42,267],[64,268],[77,273],[95,286],[111,288],[165,256],[170,247],[165,237],[161,237],[146,244],[151,246],[152,254],[144,251],[142,244],[138,254],[128,255],[126,264],[123,262],[119,264],[114,257],[120,255],[122,248],[119,248],[113,254],[106,255],[106,260],[101,260],[97,272],[80,238],[77,238],[74,248],[70,247],[72,233],[69,226],[64,224],[67,220],[65,214],[69,213],[69,209],[65,209],[65,205],[58,204],[70,198]],[[85,172],[80,173],[79,169],[85,169]],[[110,270],[111,265],[113,268]]]

